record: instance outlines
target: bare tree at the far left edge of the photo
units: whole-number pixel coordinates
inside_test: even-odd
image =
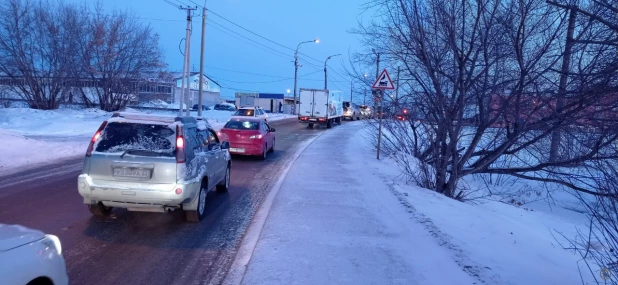
[[[77,54],[81,18],[70,5],[4,0],[0,5],[0,76],[31,108],[58,108]]]

